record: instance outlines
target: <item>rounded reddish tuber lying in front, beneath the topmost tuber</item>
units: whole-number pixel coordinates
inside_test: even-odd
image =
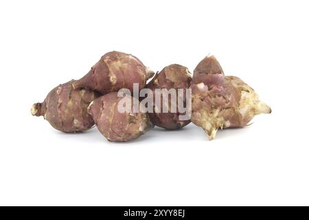
[[[133,103],[133,97],[125,96],[124,98],[131,99]],[[131,112],[119,112],[117,105],[122,99],[117,97],[116,92],[111,92],[93,100],[89,105],[89,113],[93,116],[100,133],[111,142],[133,140],[152,128],[147,113],[141,113],[141,111],[133,113],[133,105]]]

